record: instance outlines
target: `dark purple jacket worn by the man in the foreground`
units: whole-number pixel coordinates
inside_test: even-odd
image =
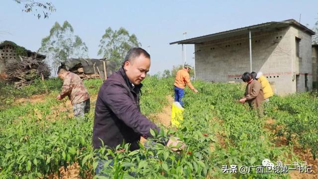
[[[159,131],[140,112],[139,96],[142,84],[132,86],[123,68],[111,75],[98,92],[93,127],[93,147],[114,149],[117,145],[131,143],[130,150],[139,149],[140,136],[152,137],[150,129]]]

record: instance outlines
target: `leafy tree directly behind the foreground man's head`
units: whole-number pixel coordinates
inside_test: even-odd
[[[116,68],[118,69],[122,65],[128,50],[140,46],[141,43],[138,42],[136,35],[130,35],[125,28],[120,27],[118,30],[113,31],[108,27],[100,40],[97,55],[101,55],[103,58],[108,58],[109,61],[115,62]]]

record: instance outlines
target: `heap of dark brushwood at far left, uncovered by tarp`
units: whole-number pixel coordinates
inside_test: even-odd
[[[50,67],[42,59],[20,57],[21,62],[6,65],[6,81],[14,83],[16,88],[32,84],[36,79],[48,79],[51,75]]]

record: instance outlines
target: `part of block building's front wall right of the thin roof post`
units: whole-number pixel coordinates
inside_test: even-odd
[[[292,83],[291,45],[288,33],[289,27],[272,31],[263,38],[265,44],[254,45],[252,57],[253,71],[263,72],[267,80],[275,84],[273,91],[277,94],[287,94],[296,91]],[[257,34],[254,38],[258,38]],[[253,45],[253,44],[252,44]],[[265,56],[267,58],[259,58]]]

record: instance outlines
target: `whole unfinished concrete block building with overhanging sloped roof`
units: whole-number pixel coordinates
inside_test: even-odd
[[[294,19],[267,22],[185,39],[194,44],[196,78],[242,82],[244,72],[263,72],[277,94],[308,91],[313,84],[312,35]]]

